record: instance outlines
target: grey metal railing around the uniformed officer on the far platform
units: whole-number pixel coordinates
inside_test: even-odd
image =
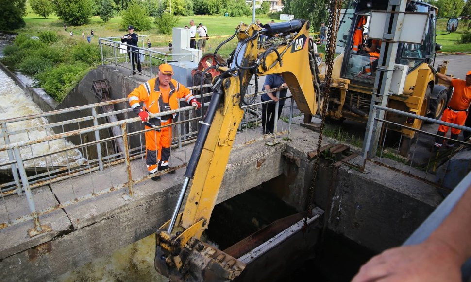
[[[144,37],[147,35],[140,35],[144,45]],[[118,67],[131,70],[131,76],[135,73],[143,74],[149,77],[155,77],[158,72],[158,66],[163,63],[178,60],[196,61],[198,58],[195,54],[191,53],[164,53],[152,49],[136,47],[121,42],[121,37],[107,37],[100,38],[100,52],[101,64],[112,64],[115,70]],[[135,54],[139,56],[141,71],[135,66],[133,70]]]

